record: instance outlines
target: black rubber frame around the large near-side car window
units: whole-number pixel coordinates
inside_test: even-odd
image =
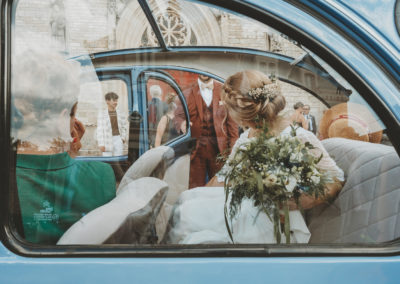
[[[216,4],[216,1],[201,1],[209,4]],[[1,163],[1,177],[7,177],[10,169],[13,171],[12,162],[14,151],[12,151],[10,145],[10,67],[11,67],[11,58],[10,58],[10,47],[11,47],[11,35],[10,35],[10,19],[11,19],[11,5],[12,1],[2,1],[1,2],[2,10],[1,10],[1,22],[2,22],[2,31],[1,31],[1,80],[2,80],[2,89],[1,89],[1,106],[4,107],[5,112],[1,115],[2,123],[1,126],[1,151],[2,156],[5,157],[4,161]],[[292,38],[301,38],[303,42],[308,43],[307,48],[310,48],[313,52],[317,48],[322,48],[321,50],[315,52],[321,58],[326,60],[333,68],[336,70],[342,70],[340,74],[342,76],[346,76],[348,81],[353,86],[356,85],[358,90],[365,91],[362,92],[363,97],[367,100],[370,105],[374,105],[374,111],[378,116],[382,118],[385,125],[393,126],[392,131],[388,133],[391,141],[393,141],[394,146],[399,153],[399,145],[400,145],[400,137],[395,137],[393,133],[399,133],[400,125],[394,115],[388,111],[387,107],[384,105],[382,101],[379,100],[379,96],[376,92],[368,87],[368,84],[359,78],[357,74],[354,74],[354,70],[352,70],[349,66],[347,66],[344,62],[340,60],[337,56],[330,53],[326,47],[321,46],[315,39],[310,38],[305,35],[301,30],[296,27],[290,26],[287,22],[282,22],[282,19],[277,19],[274,15],[269,14],[267,11],[263,11],[258,9],[257,7],[251,6],[250,4],[242,3],[242,2],[232,2],[221,0],[218,2],[217,7],[222,7],[227,10],[231,10],[234,12],[239,12],[243,15],[251,15],[251,18],[258,20],[260,22],[278,25],[282,24],[282,27],[279,29],[280,31],[288,34]],[[325,48],[325,49],[324,49]],[[322,55],[322,56],[321,56]],[[340,68],[343,69],[340,69]],[[361,92],[360,92],[361,93]],[[15,170],[14,170],[15,171]],[[34,246],[31,244],[27,244],[23,240],[16,237],[12,230],[10,230],[11,226],[8,224],[9,220],[9,212],[7,210],[8,207],[8,198],[10,193],[10,179],[5,178],[6,182],[2,187],[2,196],[3,203],[2,207],[2,229],[1,229],[1,240],[3,244],[10,249],[11,251],[24,255],[24,256],[47,256],[47,257],[77,257],[77,256],[101,256],[101,257],[121,257],[121,256],[142,256],[142,257],[171,257],[171,256],[203,256],[203,257],[215,257],[215,256],[337,256],[337,255],[351,255],[351,256],[380,256],[380,255],[398,255],[400,253],[400,248],[398,244],[398,240],[393,240],[392,242],[385,244],[372,244],[372,245],[360,245],[357,247],[347,247],[343,245],[332,245],[329,244],[329,247],[322,245],[291,245],[289,248],[286,246],[279,245],[266,245],[260,246],[257,245],[243,245],[238,247],[231,246],[210,246],[210,245],[196,245],[192,246],[160,246],[159,248],[152,247],[140,247],[133,248],[132,246],[91,246],[91,247],[82,247],[82,246]],[[4,206],[5,205],[5,206]],[[69,253],[67,253],[67,251]]]

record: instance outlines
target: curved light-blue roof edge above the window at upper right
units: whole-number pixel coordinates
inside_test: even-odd
[[[358,75],[365,81],[371,88],[374,89],[377,96],[380,97],[388,107],[388,111],[397,117],[397,120],[400,121],[400,96],[398,85],[400,79],[397,79],[397,86],[395,83],[388,78],[388,76],[384,73],[382,69],[380,69],[374,62],[373,58],[379,58],[378,52],[384,52],[382,44],[379,42],[374,45],[378,45],[377,50],[372,49],[371,46],[362,45],[363,48],[367,49],[370,52],[370,55],[367,56],[361,50],[354,47],[354,45],[343,38],[343,36],[336,32],[333,29],[330,29],[328,26],[324,26],[325,24],[319,21],[318,19],[306,14],[299,9],[293,7],[293,5],[287,2],[281,1],[263,1],[263,0],[249,0],[247,3],[257,6],[260,9],[268,9],[270,13],[276,15],[279,18],[285,19],[287,22],[291,23],[295,27],[300,30],[307,31],[309,35],[317,39],[320,43],[326,46],[330,51],[334,54],[340,56],[340,58],[354,71],[358,73]],[[300,1],[306,2],[306,1]],[[317,9],[315,7],[315,3],[321,5],[327,5],[325,1],[310,1],[312,3],[308,3],[312,9]],[[394,2],[394,1],[392,1]],[[360,2],[361,3],[361,2]],[[361,6],[361,4],[360,4]],[[333,9],[330,6],[330,9]],[[357,43],[363,44],[360,41],[359,36],[364,35],[365,31],[363,28],[358,28],[358,30],[354,31],[353,29],[357,26],[354,24],[354,27],[349,28],[344,23],[348,22],[349,19],[344,17],[341,12],[335,10],[330,10],[329,14],[324,11],[324,17],[335,16],[339,19],[342,18],[342,22],[337,22],[336,27],[339,27],[347,32],[349,35],[353,35],[356,38],[354,39]],[[374,13],[374,11],[371,11]],[[394,25],[394,11],[392,10],[392,22]],[[290,16],[289,16],[290,15]],[[374,42],[374,38],[370,38],[370,42]],[[392,68],[392,74],[394,77],[400,78],[400,55],[399,53],[390,55],[384,53],[386,57],[389,57],[387,60],[392,65],[397,68]],[[362,94],[361,94],[362,95]]]

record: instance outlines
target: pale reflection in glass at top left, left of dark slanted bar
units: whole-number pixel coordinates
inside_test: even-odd
[[[48,46],[69,56],[158,46],[137,1],[20,0],[14,17],[17,48]],[[135,27],[135,29],[132,29]]]

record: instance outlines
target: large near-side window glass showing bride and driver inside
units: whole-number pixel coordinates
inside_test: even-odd
[[[190,48],[140,49],[158,43],[136,1],[33,1],[16,2],[11,52],[12,222],[25,241],[399,237],[400,161],[381,114],[306,47],[180,0],[148,3],[167,46]]]

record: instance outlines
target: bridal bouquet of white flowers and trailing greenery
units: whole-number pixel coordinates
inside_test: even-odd
[[[277,137],[264,129],[259,136],[240,145],[226,162],[225,224],[232,242],[228,215],[231,220],[235,217],[244,198],[252,200],[270,218],[278,243],[282,233],[286,243],[290,243],[289,201],[300,207],[301,194],[315,198],[324,195],[329,178],[317,168],[322,154],[313,156],[310,150],[314,147],[295,135],[294,128],[290,136]]]

